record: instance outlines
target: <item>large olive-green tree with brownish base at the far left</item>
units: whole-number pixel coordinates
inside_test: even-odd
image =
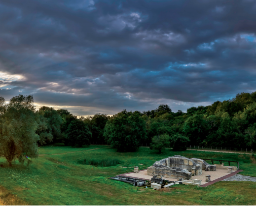
[[[33,96],[19,94],[11,98],[8,104],[1,98],[1,107],[5,107],[0,118],[0,156],[5,157],[9,166],[18,158],[24,163],[26,158],[38,157],[38,119],[35,115]],[[2,110],[3,111],[3,110]]]

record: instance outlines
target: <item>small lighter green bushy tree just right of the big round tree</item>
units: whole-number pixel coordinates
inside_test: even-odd
[[[150,144],[151,149],[155,149],[161,153],[162,149],[170,146],[170,136],[168,134],[156,135],[152,138]]]

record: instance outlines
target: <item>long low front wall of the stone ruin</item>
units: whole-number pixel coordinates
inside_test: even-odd
[[[162,175],[167,178],[184,178],[186,180],[192,179],[192,173],[177,167],[148,167],[147,175]]]

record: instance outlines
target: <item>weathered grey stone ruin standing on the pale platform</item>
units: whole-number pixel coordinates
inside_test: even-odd
[[[194,175],[202,175],[202,170],[215,171],[216,166],[201,159],[189,159],[179,155],[157,161],[148,167],[147,175],[161,175],[167,178],[191,180]]]

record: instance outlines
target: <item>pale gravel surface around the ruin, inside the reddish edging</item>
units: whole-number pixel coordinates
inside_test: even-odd
[[[197,179],[197,180],[202,180],[202,184],[207,183],[205,181],[205,176],[210,175],[211,176],[211,181],[218,179],[220,177],[223,177],[225,175],[230,174],[227,169],[216,169],[216,171],[203,171],[202,175],[196,175],[192,176],[192,179]],[[143,178],[143,179],[148,179],[151,180],[153,176],[147,175],[147,170],[139,171],[138,173],[129,173],[125,174],[124,176],[130,176],[130,177],[135,177],[135,178]],[[176,181],[177,179],[174,178],[166,178],[163,177],[165,180],[171,180],[171,181]]]

